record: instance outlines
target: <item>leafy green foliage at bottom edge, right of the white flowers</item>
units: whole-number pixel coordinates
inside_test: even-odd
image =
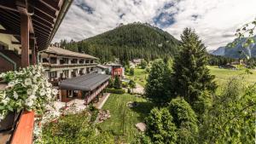
[[[68,114],[55,123],[44,126],[42,143],[114,143],[113,135],[107,132],[96,133],[96,128],[90,126],[87,112]]]

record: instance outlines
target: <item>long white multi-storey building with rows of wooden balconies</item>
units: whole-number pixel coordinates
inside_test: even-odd
[[[96,72],[97,58],[91,55],[50,46],[39,52],[38,56],[39,62],[44,66],[46,77],[54,85],[67,78]]]

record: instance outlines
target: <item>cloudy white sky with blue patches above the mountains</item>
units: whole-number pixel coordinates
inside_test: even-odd
[[[177,39],[189,26],[208,50],[218,49],[234,39],[236,28],[256,18],[255,6],[256,0],[74,0],[54,42],[79,41],[140,21]]]

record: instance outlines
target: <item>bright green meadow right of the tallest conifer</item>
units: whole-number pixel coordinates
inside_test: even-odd
[[[218,85],[224,84],[229,78],[240,76],[244,82],[253,84],[256,82],[256,71],[250,70],[253,74],[247,74],[245,69],[229,70],[218,68],[218,66],[208,66],[212,75],[215,75],[215,81]]]

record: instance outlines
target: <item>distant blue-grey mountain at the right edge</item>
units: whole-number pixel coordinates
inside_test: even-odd
[[[256,36],[253,37],[254,42],[256,42]],[[215,51],[213,51],[212,55],[221,55],[230,58],[244,58],[245,56],[256,57],[256,43],[252,43],[247,47],[244,47],[246,38],[236,38],[234,40],[234,46],[231,43],[228,43],[225,47],[219,47]]]

